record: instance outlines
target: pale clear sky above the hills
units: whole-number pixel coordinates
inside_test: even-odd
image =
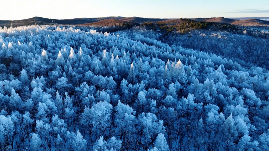
[[[2,1],[2,2],[1,2]],[[34,16],[67,19],[269,17],[268,0],[1,0],[0,20]]]

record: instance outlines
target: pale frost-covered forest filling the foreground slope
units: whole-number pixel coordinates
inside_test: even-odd
[[[268,70],[158,35],[0,28],[0,150],[268,150]]]

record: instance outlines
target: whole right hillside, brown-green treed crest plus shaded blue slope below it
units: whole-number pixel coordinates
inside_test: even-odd
[[[261,67],[269,67],[269,64],[264,62],[268,52],[266,43],[268,43],[269,33],[257,30],[256,27],[182,18],[156,23],[146,22],[141,28],[157,31],[161,35],[161,41],[170,45],[178,44],[185,48],[215,53],[226,58],[236,57]],[[212,43],[217,43],[217,45],[212,45]],[[227,48],[232,53],[227,53]]]

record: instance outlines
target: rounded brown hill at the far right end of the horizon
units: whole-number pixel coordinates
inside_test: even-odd
[[[232,25],[238,26],[264,26],[269,27],[269,21],[260,20],[260,19],[247,19],[247,20],[238,20],[231,23]]]

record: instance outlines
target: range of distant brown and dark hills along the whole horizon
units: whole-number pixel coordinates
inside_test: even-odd
[[[239,20],[238,20],[239,19]],[[262,20],[261,20],[262,19]],[[232,24],[238,26],[250,27],[269,27],[268,18],[192,18],[191,20],[208,23]],[[82,26],[126,26],[133,27],[147,22],[159,22],[166,25],[182,22],[183,19],[161,19],[161,18],[141,18],[141,17],[101,17],[101,18],[74,18],[74,19],[51,19],[42,17],[33,17],[22,20],[13,20],[12,26],[44,25],[44,24],[63,24],[63,25],[82,25]],[[0,26],[10,27],[10,20],[0,20]]]

